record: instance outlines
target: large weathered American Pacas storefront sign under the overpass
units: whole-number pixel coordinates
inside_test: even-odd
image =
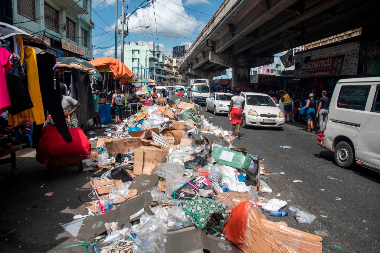
[[[356,75],[359,42],[294,55],[294,77]]]

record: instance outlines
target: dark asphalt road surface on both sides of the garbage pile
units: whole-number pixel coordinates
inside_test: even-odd
[[[202,113],[215,125],[230,129],[225,115]],[[315,144],[317,135],[304,129],[298,124],[285,125],[283,130],[242,129],[242,139],[234,141],[235,146],[260,155],[266,172],[285,173],[268,176],[268,184],[274,191],[263,196],[288,201],[288,206],[296,206],[317,218],[311,224],[300,224],[293,215],[269,217],[266,213],[266,216],[302,231],[324,232],[323,245],[335,244],[346,252],[379,252],[379,174],[360,167],[347,170],[336,166],[332,153]],[[95,147],[96,141],[92,144]],[[293,148],[282,149],[279,145]],[[76,167],[54,169],[48,174],[46,165],[35,160],[35,150],[30,148],[19,151],[17,157],[17,175],[0,181],[0,252],[45,252],[78,244],[60,228],[60,223],[87,213],[81,200],[87,201],[91,174],[79,173]],[[8,166],[2,165],[0,169]],[[293,183],[296,179],[302,182]],[[45,196],[46,193],[52,195]],[[276,196],[278,193],[281,196]],[[331,246],[323,249],[342,252]],[[63,248],[58,252],[84,252],[84,248]]]

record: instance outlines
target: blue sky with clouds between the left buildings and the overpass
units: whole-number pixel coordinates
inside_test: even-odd
[[[93,7],[99,5],[92,12],[92,21],[95,23],[95,29],[92,30],[94,58],[114,56],[116,1],[93,0],[92,2]],[[118,17],[120,17],[121,0],[118,1]],[[125,0],[126,8],[128,6],[126,13],[129,15],[142,2],[143,0]],[[128,28],[138,28],[131,29],[125,41],[154,41],[159,44],[163,54],[171,55],[173,46],[192,44],[222,2],[223,0],[155,0],[153,6],[150,4],[132,14]],[[117,26],[120,28],[120,22]],[[149,28],[139,26],[149,26]],[[120,40],[118,35],[118,41]],[[120,48],[119,43],[119,59]]]

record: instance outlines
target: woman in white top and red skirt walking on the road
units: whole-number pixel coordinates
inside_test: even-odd
[[[235,130],[237,125],[237,139],[241,138],[240,126],[241,126],[241,116],[244,109],[245,99],[240,96],[240,89],[235,89],[235,96],[231,98],[230,109],[228,110],[228,117],[230,118],[230,123],[232,124],[232,134],[235,136]]]

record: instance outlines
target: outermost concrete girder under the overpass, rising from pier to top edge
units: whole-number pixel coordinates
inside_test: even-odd
[[[270,9],[267,9],[265,4],[257,5],[257,8],[254,9],[255,14],[249,13],[246,15],[246,18],[242,19],[242,22],[239,23],[239,27],[236,28],[237,35],[227,41],[222,41],[222,39],[217,41],[215,52],[217,54],[222,53],[228,47],[232,46],[234,43],[241,40],[241,38],[244,38],[244,36],[265,24],[267,21],[297,1],[298,0],[280,0],[272,5]]]

